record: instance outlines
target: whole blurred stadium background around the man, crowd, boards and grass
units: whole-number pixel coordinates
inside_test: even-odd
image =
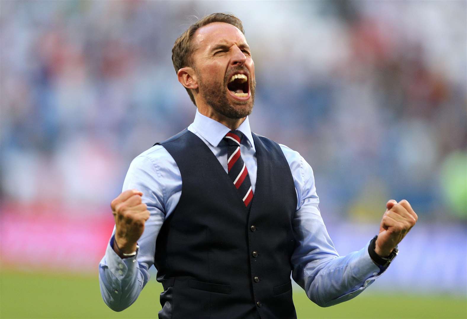
[[[311,164],[341,255],[388,199],[419,216],[358,298],[322,309],[296,287],[299,318],[466,318],[467,2],[345,0],[1,1],[0,317],[156,317],[155,277],[114,313],[98,263],[129,163],[194,118],[171,48],[214,12],[243,21],[251,128]]]

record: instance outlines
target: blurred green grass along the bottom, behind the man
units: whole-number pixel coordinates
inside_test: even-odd
[[[157,318],[162,286],[150,282],[127,310],[113,312],[102,301],[97,276],[0,273],[0,318]],[[371,287],[328,308],[294,293],[298,318],[467,318],[466,297],[382,294]]]

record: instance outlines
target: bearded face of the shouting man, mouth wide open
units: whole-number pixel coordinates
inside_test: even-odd
[[[192,45],[199,97],[228,118],[249,115],[255,101],[255,64],[241,31],[213,22],[196,31]]]

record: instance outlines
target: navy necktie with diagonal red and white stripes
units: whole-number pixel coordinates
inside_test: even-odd
[[[240,193],[245,206],[249,208],[253,199],[253,189],[251,188],[250,177],[245,163],[240,156],[240,142],[243,134],[240,131],[230,131],[224,139],[228,143],[227,149],[227,170],[233,184]]]

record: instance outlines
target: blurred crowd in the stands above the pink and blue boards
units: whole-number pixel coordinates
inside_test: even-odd
[[[465,1],[1,1],[1,203],[108,207],[191,123],[171,48],[213,12],[243,20],[252,130],[311,164],[325,221],[467,219]]]

